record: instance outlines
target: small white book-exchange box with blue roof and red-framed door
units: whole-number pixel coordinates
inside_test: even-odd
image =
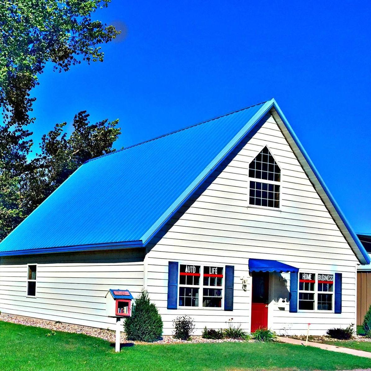
[[[109,289],[106,294],[108,317],[130,317],[133,296],[129,290]]]

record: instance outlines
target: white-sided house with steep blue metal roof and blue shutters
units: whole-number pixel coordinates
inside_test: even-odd
[[[114,328],[145,288],[171,335],[230,318],[324,334],[356,321],[370,257],[274,99],[83,164],[0,243],[0,311]]]

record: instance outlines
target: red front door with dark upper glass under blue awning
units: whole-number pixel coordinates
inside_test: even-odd
[[[269,272],[252,272],[251,332],[268,326]]]

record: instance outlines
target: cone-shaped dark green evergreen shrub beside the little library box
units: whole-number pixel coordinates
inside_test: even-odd
[[[153,342],[162,339],[162,319],[146,290],[135,299],[124,328],[129,340]]]

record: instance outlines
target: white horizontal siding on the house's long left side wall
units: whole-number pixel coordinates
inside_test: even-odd
[[[108,289],[143,287],[143,249],[5,257],[0,260],[0,311],[52,321],[114,328]],[[36,298],[26,297],[27,263],[37,263]]]

